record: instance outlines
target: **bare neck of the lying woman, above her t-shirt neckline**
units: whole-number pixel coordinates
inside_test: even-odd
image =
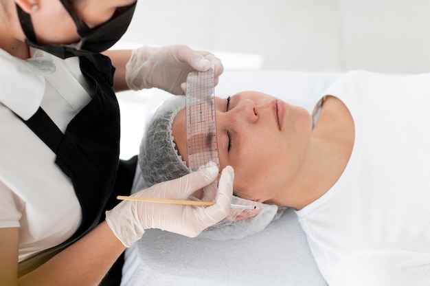
[[[348,164],[354,137],[354,121],[345,104],[328,96],[294,178],[295,185],[285,191],[285,206],[300,210],[332,188]]]

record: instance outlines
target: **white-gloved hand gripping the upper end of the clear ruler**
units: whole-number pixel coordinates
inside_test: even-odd
[[[191,50],[185,45],[139,47],[131,52],[126,64],[126,83],[130,89],[157,87],[171,94],[184,94],[181,84],[190,72],[205,72],[215,65],[215,85],[223,73],[223,64],[210,52]]]

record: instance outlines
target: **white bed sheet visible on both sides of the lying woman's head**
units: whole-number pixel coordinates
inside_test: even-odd
[[[339,74],[225,72],[216,96],[256,90],[312,111]],[[148,115],[169,95],[155,91]],[[147,230],[126,250],[122,285],[326,285],[293,210],[262,232],[239,240],[213,241]]]

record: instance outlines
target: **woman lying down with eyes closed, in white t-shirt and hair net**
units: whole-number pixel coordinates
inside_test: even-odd
[[[430,74],[350,72],[312,115],[256,91],[216,98],[221,168],[234,168],[236,196],[296,210],[329,285],[425,285],[429,94]],[[185,98],[164,105],[168,136],[160,120],[146,134],[159,154],[145,139],[139,154],[149,184],[190,172]]]

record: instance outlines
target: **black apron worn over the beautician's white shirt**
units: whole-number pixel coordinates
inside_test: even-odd
[[[112,88],[115,68],[108,57],[94,54],[80,57],[80,69],[95,94],[69,122],[64,134],[41,108],[24,122],[56,153],[56,164],[71,178],[82,223],[64,243],[21,261],[19,277],[87,234],[104,219],[106,206],[116,203],[113,190],[120,154],[120,109]],[[125,195],[129,191],[122,189]]]

